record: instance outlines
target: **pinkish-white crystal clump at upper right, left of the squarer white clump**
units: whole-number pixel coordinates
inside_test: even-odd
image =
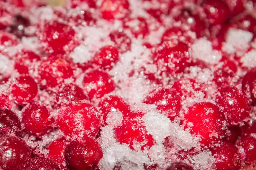
[[[200,59],[209,64],[217,64],[221,59],[221,54],[217,50],[213,50],[212,43],[206,38],[195,40],[192,45],[192,57]]]

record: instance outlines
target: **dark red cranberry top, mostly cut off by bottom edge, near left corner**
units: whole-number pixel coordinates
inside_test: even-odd
[[[35,157],[31,159],[30,167],[28,170],[61,170],[58,165],[45,157]]]

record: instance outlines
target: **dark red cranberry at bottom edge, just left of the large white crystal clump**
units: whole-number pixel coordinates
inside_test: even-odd
[[[94,139],[72,141],[65,149],[67,167],[72,170],[96,169],[102,157],[101,147]]]

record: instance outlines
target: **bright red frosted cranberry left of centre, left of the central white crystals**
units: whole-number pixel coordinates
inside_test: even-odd
[[[110,93],[116,87],[111,77],[100,70],[90,71],[84,75],[84,88],[90,99],[100,98]]]

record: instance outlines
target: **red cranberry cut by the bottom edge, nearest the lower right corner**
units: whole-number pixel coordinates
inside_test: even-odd
[[[219,146],[210,148],[215,158],[216,170],[239,170],[241,158],[238,148],[229,142],[221,142]]]

